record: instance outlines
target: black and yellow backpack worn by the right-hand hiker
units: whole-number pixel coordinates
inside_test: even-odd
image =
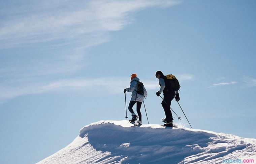
[[[165,87],[167,87],[166,91],[178,91],[180,90],[180,83],[178,79],[172,74],[166,75],[164,77]]]

